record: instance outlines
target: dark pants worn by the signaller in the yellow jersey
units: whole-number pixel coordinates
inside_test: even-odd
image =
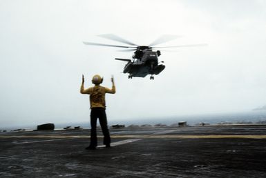
[[[97,118],[99,118],[99,124],[102,128],[102,133],[104,134],[104,145],[111,143],[111,138],[107,126],[107,119],[105,108],[92,108],[91,109],[91,145],[97,146]]]

